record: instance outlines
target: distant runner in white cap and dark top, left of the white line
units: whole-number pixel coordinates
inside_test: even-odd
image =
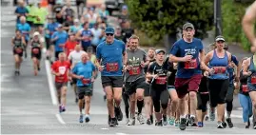
[[[33,61],[33,68],[34,68],[34,75],[36,76],[38,74],[38,71],[40,70],[40,60],[42,57],[42,48],[43,44],[39,39],[40,33],[38,31],[35,31],[33,33],[33,39],[31,40],[31,58]]]

